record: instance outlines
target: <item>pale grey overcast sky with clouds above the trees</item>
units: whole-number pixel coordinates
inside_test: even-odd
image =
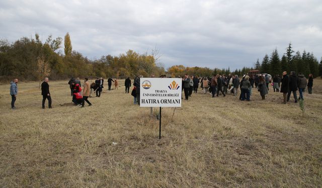
[[[73,50],[89,59],[156,46],[166,68],[252,67],[275,48],[282,56],[289,42],[295,51],[322,56],[320,0],[1,0],[0,21],[0,38],[10,42],[69,32]]]

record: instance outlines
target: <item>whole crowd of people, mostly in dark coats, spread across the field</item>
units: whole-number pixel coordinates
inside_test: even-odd
[[[133,96],[133,103],[140,104],[140,78],[143,76],[136,76],[133,81],[133,89],[131,95]],[[152,75],[151,77],[154,77]],[[162,78],[165,78],[166,75],[162,75]],[[240,80],[237,75],[214,75],[213,77],[198,77],[198,76],[189,76],[185,74],[184,77],[179,77],[182,79],[182,90],[184,91],[185,100],[188,100],[192,93],[197,93],[199,86],[201,87],[201,93],[212,95],[212,97],[219,97],[221,94],[225,97],[227,94],[232,94],[237,96],[239,94],[239,100],[241,101],[250,101],[251,96],[253,95],[253,88],[256,88],[259,92],[262,100],[265,100],[265,96],[269,92],[269,84],[272,81],[271,85],[274,92],[283,93],[283,103],[286,104],[290,100],[290,96],[293,93],[294,102],[297,103],[298,100],[304,99],[303,92],[307,87],[308,94],[312,94],[313,86],[313,76],[312,74],[308,75],[308,81],[302,73],[298,73],[296,76],[295,72],[292,71],[290,75],[286,71],[283,72],[282,77],[279,75],[274,75],[274,78],[271,80],[268,74],[265,75],[244,75]],[[41,94],[42,94],[42,108],[45,108],[45,101],[48,100],[48,108],[52,108],[51,95],[49,92],[49,79],[46,77],[41,84]],[[12,97],[11,108],[16,109],[15,101],[18,95],[18,82],[16,78],[10,83],[10,95]],[[111,90],[112,82],[114,83],[114,89],[118,89],[119,84],[117,79],[108,79],[108,90]],[[70,95],[72,96],[72,102],[75,105],[81,107],[85,106],[85,102],[92,105],[88,100],[89,97],[92,97],[93,93],[96,93],[96,97],[101,96],[101,92],[104,88],[104,79],[97,78],[92,84],[89,83],[89,79],[85,78],[83,84],[83,95],[82,95],[82,84],[79,78],[71,78],[68,82],[70,88]],[[125,79],[125,93],[129,93],[131,87],[131,79],[127,77]],[[254,86],[255,85],[255,86]],[[299,92],[299,98],[297,98],[297,91]],[[183,98],[182,98],[183,99]]]

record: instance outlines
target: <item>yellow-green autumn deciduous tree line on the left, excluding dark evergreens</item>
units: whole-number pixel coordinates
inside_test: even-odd
[[[64,43],[64,54],[58,51]],[[70,36],[53,39],[48,36],[42,42],[38,34],[35,38],[23,37],[13,43],[0,40],[0,79],[19,77],[20,80],[39,80],[50,76],[52,80],[70,77],[116,77],[126,78],[137,75],[145,77],[165,74],[164,66],[158,62],[158,50],[139,54],[128,50],[119,56],[106,55],[90,60],[73,51]]]

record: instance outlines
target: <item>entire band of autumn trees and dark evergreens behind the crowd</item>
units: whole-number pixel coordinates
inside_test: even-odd
[[[64,54],[59,50],[64,44]],[[233,54],[232,54],[233,55]],[[185,67],[174,65],[167,70],[160,62],[162,55],[155,47],[150,52],[139,54],[128,50],[119,56],[103,55],[100,59],[90,60],[82,53],[73,51],[70,36],[68,33],[56,39],[49,35],[45,42],[42,42],[36,33],[33,37],[22,37],[15,42],[6,39],[0,40],[0,80],[8,81],[19,77],[23,81],[41,80],[44,76],[50,76],[51,80],[63,80],[71,77],[113,77],[113,78],[134,78],[138,75],[149,77],[152,74],[158,77],[166,74],[171,77],[183,76],[184,74],[208,76],[229,73],[243,75],[250,70],[260,70],[261,73],[281,75],[283,71],[302,72],[306,77],[312,74],[313,77],[322,76],[322,58],[320,62],[311,52],[294,52],[292,44],[285,49],[282,56],[275,49],[263,60],[257,59],[253,67],[243,67],[234,71],[227,68],[208,67]],[[183,62],[184,64],[184,62]],[[198,62],[196,62],[196,65]]]

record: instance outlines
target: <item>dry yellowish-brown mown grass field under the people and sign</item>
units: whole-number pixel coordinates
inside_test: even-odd
[[[42,109],[29,82],[12,110],[10,86],[0,85],[0,187],[322,186],[320,79],[304,94],[304,117],[272,88],[250,102],[193,93],[175,112],[163,108],[162,139],[124,80],[85,108],[71,105],[67,81],[49,85],[63,106]]]

